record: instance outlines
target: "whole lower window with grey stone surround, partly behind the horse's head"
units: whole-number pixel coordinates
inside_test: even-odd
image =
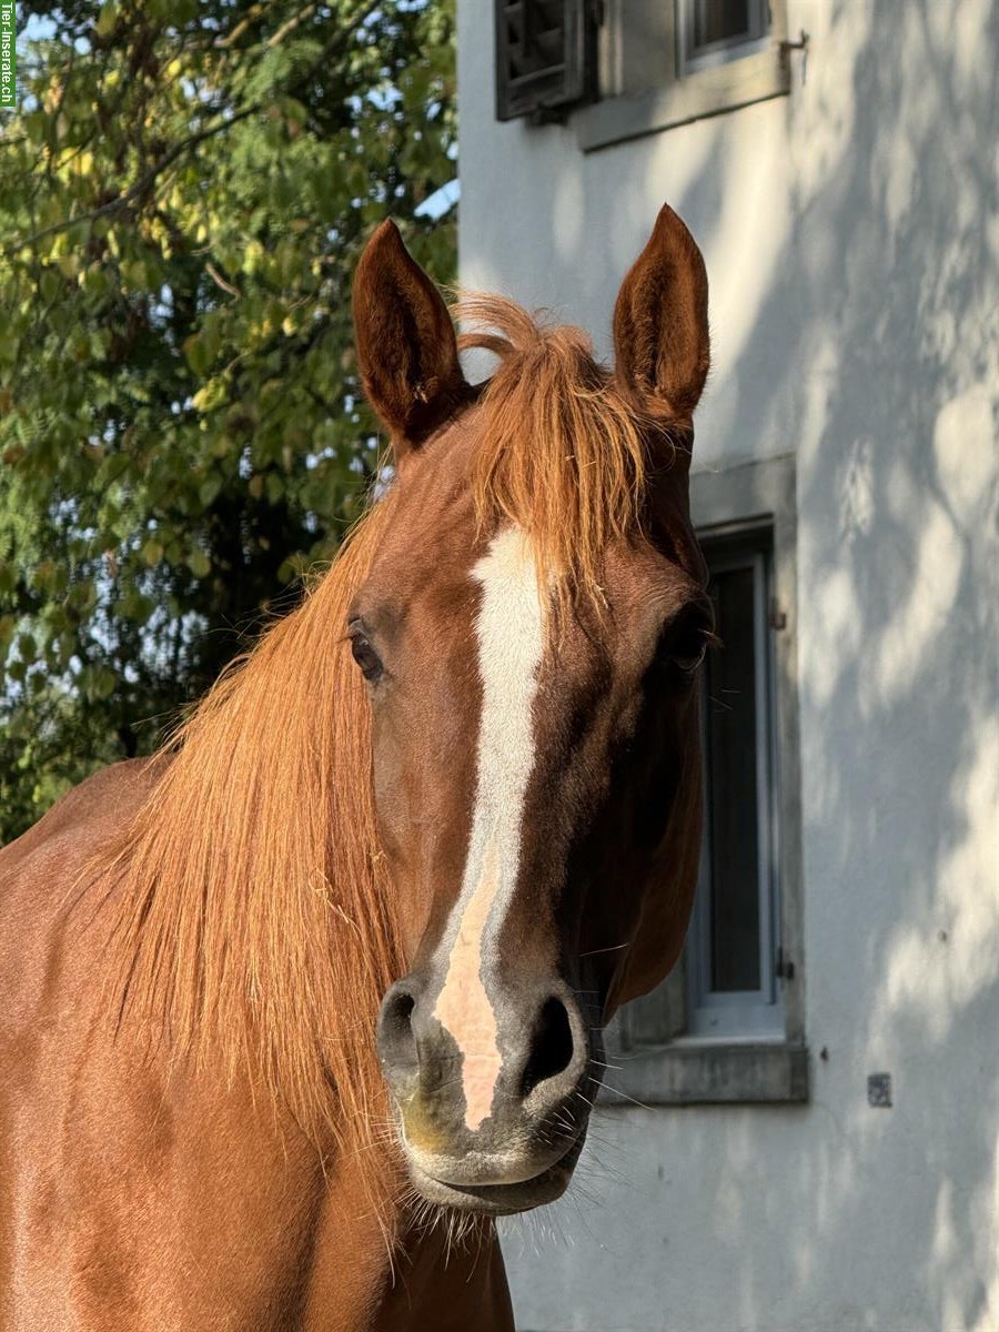
[[[625,1100],[805,1100],[794,460],[694,473],[691,511],[723,642],[702,674],[701,879],[681,962],[609,1032],[607,1082]]]

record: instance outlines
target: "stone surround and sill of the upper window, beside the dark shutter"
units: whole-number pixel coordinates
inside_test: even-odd
[[[769,8],[765,36],[685,60],[689,0],[605,0],[599,100],[573,115],[583,152],[609,148],[791,91],[786,0]]]

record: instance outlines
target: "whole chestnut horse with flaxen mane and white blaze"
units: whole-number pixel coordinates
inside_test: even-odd
[[[513,1327],[494,1217],[566,1187],[694,892],[706,305],[663,208],[613,373],[484,297],[473,388],[374,233],[386,494],[164,753],[0,855],[8,1332]]]

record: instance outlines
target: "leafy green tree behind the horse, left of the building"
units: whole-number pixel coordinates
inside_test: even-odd
[[[31,12],[0,129],[0,842],[155,747],[357,515],[365,237],[452,277],[434,0]],[[437,217],[432,216],[438,213]]]

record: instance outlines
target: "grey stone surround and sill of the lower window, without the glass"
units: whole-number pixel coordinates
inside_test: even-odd
[[[609,1032],[609,1104],[806,1102],[801,759],[797,670],[797,507],[793,456],[737,464],[690,478],[702,538],[769,525],[773,531],[771,701],[775,787],[777,947],[783,1024],[769,1039],[690,1031],[689,951],[649,996],[627,1004]]]

